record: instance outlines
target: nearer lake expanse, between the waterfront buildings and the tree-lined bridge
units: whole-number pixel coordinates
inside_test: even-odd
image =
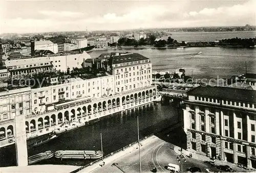
[[[150,58],[155,71],[174,72],[185,68],[186,75],[196,78],[229,78],[247,72],[256,73],[256,48],[189,47],[182,50],[172,48],[121,49],[93,51],[92,58],[102,53],[131,52]],[[198,52],[202,54],[197,55]]]

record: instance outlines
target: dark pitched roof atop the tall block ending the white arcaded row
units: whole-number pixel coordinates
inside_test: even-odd
[[[140,61],[140,60],[149,60],[149,58],[146,58],[137,53],[127,53],[119,56],[113,56],[113,64],[120,64],[120,63]]]

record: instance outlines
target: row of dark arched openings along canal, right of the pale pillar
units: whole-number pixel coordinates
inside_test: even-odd
[[[93,114],[118,108],[121,105],[134,103],[137,101],[145,100],[146,98],[153,97],[156,94],[155,89],[138,92],[135,94],[129,94],[122,96],[122,98],[113,98],[108,101],[98,102],[94,104],[85,105],[82,107],[62,110],[57,114],[47,115],[45,117],[39,117],[26,121],[26,133],[37,131],[40,129],[48,128],[51,126],[59,125],[63,122],[70,122],[72,120],[80,119],[81,117],[91,116]]]

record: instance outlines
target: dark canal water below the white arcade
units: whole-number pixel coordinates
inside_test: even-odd
[[[32,156],[48,150],[101,150],[100,133],[102,133],[104,155],[108,155],[138,139],[137,116],[139,116],[140,138],[143,138],[152,133],[158,133],[180,121],[177,115],[178,110],[175,105],[147,104],[136,110],[103,117],[92,125],[61,134],[55,140],[29,149],[28,155]],[[57,158],[51,158],[36,164],[85,165],[92,161],[90,159],[65,159],[61,161]],[[15,164],[15,145],[0,149],[0,167]]]

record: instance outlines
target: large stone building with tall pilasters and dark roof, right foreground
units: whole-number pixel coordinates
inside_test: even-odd
[[[256,91],[199,86],[187,95],[187,149],[256,168]]]

